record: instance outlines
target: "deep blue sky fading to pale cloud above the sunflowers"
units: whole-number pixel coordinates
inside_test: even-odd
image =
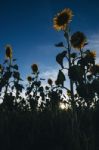
[[[23,78],[30,74],[33,63],[43,75],[54,76],[59,67],[55,56],[61,51],[54,44],[63,36],[53,29],[53,17],[68,7],[74,13],[72,32],[83,31],[99,55],[98,0],[0,0],[0,61],[4,46],[11,44]]]

